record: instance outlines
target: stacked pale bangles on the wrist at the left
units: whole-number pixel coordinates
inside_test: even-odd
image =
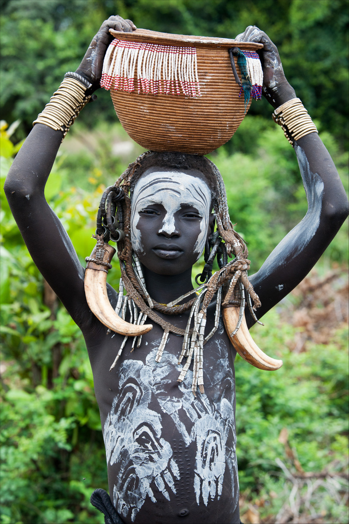
[[[79,74],[66,73],[58,91],[53,93],[50,102],[38,115],[33,125],[44,124],[56,131],[61,130],[64,138],[77,115],[91,99],[89,94],[91,87],[92,84]]]

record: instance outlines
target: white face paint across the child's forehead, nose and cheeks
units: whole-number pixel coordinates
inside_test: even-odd
[[[197,259],[204,251],[210,216],[211,192],[200,178],[178,171],[153,172],[140,178],[131,203],[131,242],[136,253],[143,252],[141,232],[137,229],[139,212],[148,205],[161,204],[166,215],[160,232],[175,232],[175,213],[182,205],[196,208],[202,216],[200,234],[194,246]]]

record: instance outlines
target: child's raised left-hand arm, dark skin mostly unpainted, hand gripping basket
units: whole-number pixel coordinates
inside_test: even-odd
[[[63,97],[58,109],[53,106],[51,114],[39,118],[18,152],[4,186],[30,255],[79,325],[91,316],[85,299],[84,269],[61,222],[46,202],[44,188],[64,135],[59,129],[64,130],[66,126],[66,122],[60,121],[61,115],[64,121],[65,115],[71,112],[74,120],[74,111],[76,114],[89,95],[99,88],[104,54],[112,39],[109,28],[132,31],[135,26],[119,16],[112,16],[102,24],[75,72],[77,77],[73,78],[74,74],[69,77],[68,90],[76,86],[76,92],[71,91],[69,104],[64,106]],[[81,103],[80,99],[83,99]],[[71,107],[74,100],[77,100],[75,109]]]

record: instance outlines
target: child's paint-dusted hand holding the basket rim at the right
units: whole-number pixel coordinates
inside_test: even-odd
[[[277,47],[265,32],[256,26],[249,26],[235,37],[243,42],[263,43],[263,49],[257,51],[263,68],[263,95],[274,109],[284,102],[296,98],[295,90],[287,82]]]

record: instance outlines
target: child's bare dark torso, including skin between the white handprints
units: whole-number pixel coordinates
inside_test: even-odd
[[[196,398],[192,366],[177,382],[183,338],[170,335],[157,363],[162,330],[154,325],[150,333],[132,353],[129,341],[110,373],[119,349],[111,338],[93,365],[110,495],[121,516],[135,522],[154,501],[165,513],[185,500],[207,511],[221,499],[224,475],[230,497],[237,476],[233,355],[222,326],[204,346],[205,394]]]

